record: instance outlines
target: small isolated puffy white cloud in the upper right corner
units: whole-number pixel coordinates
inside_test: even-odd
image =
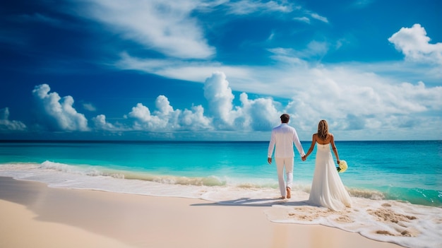
[[[414,24],[412,28],[401,28],[388,38],[406,59],[442,65],[442,42],[430,44],[430,40],[420,24]]]

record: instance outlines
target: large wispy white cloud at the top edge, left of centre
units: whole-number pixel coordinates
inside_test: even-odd
[[[77,15],[103,23],[114,33],[169,57],[205,59],[215,54],[192,11],[198,1],[95,0]]]

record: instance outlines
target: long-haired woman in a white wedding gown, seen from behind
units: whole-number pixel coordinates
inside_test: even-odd
[[[302,160],[306,160],[316,143],[318,143],[318,148],[309,203],[315,206],[324,206],[334,211],[342,211],[346,206],[352,206],[352,199],[350,199],[350,195],[345,190],[344,184],[342,184],[336,170],[330,151],[330,144],[339,164],[338,150],[335,146],[333,134],[328,132],[328,124],[325,120],[319,122],[318,133],[313,134],[309,151],[302,157]]]

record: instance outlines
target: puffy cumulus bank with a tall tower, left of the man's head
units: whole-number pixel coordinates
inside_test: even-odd
[[[275,126],[281,112],[271,98],[249,100],[241,93],[241,105],[235,106],[234,95],[225,73],[217,71],[206,79],[204,96],[208,112],[201,105],[190,110],[175,110],[165,95],[155,100],[155,111],[139,102],[132,107],[126,119],[131,122],[126,130],[136,131],[268,131]],[[94,119],[95,126],[111,130],[104,116]]]

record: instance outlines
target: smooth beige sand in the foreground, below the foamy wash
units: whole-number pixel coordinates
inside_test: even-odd
[[[400,247],[322,225],[272,223],[268,208],[0,177],[0,247]]]

